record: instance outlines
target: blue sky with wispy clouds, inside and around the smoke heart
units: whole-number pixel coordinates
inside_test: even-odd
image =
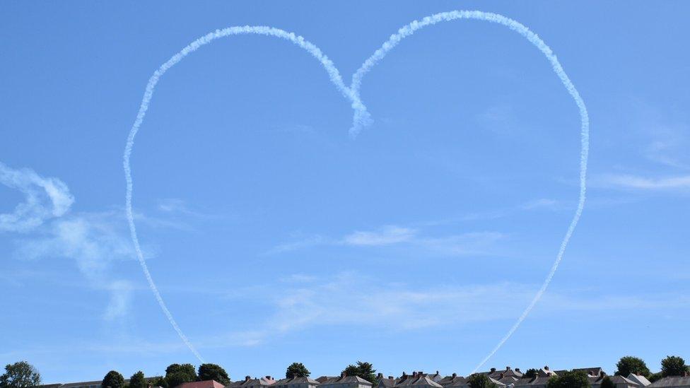
[[[348,81],[397,28],[454,9],[539,34],[591,119],[583,218],[485,368],[690,358],[687,4],[5,2],[0,364],[28,360],[46,382],[198,365],[124,217],[124,143],[172,54],[217,28],[272,25]],[[233,378],[293,361],[314,375],[356,360],[466,374],[554,261],[580,123],[529,42],[478,21],[426,28],[361,95],[374,124],[352,139],[349,102],[317,61],[257,36],[199,49],[158,84],[131,159],[139,238],[180,327]]]

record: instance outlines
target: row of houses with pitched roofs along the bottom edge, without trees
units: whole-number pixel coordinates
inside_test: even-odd
[[[600,388],[607,374],[602,368],[579,368],[577,371],[585,373],[592,388]],[[549,379],[559,376],[566,370],[551,370],[548,366],[540,368],[534,377],[525,377],[520,368],[509,366],[504,370],[491,368],[488,372],[481,372],[489,377],[498,388],[546,388]],[[616,388],[690,388],[690,376],[665,377],[656,382],[650,382],[646,377],[631,373],[628,376],[609,376]],[[384,377],[379,373],[378,383],[372,384],[357,376],[321,376],[317,379],[310,377],[293,377],[275,380],[274,377],[250,377],[244,380],[223,384],[214,380],[200,382],[186,382],[175,388],[470,388],[468,377],[455,373],[450,376],[435,373],[403,372],[399,377]],[[100,381],[77,382],[69,384],[49,384],[42,388],[101,388]]]

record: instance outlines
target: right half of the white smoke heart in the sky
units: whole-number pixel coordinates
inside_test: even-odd
[[[589,115],[587,114],[587,107],[585,107],[585,102],[580,97],[580,93],[578,93],[578,90],[575,89],[575,86],[571,82],[570,78],[568,78],[566,71],[563,70],[563,66],[561,66],[561,63],[556,58],[554,52],[551,51],[550,47],[547,46],[546,43],[544,43],[544,41],[541,38],[539,38],[537,34],[532,33],[532,31],[529,28],[517,22],[516,20],[506,18],[505,16],[498,15],[497,13],[489,13],[482,11],[450,11],[436,13],[435,15],[427,16],[422,20],[414,20],[413,22],[400,28],[398,32],[394,35],[391,35],[391,37],[379,49],[377,49],[371,57],[364,61],[362,66],[352,76],[352,83],[350,85],[350,89],[354,94],[354,97],[357,98],[357,100],[359,100],[359,89],[362,84],[362,78],[372,69],[373,66],[375,66],[375,64],[378,64],[378,62],[381,59],[383,59],[386,56],[386,54],[390,52],[390,50],[392,50],[395,46],[397,46],[397,44],[401,42],[404,38],[409,37],[410,35],[414,34],[416,30],[420,30],[421,28],[427,27],[428,25],[435,25],[436,23],[462,19],[483,20],[491,23],[505,25],[505,27],[508,27],[510,28],[510,30],[513,30],[516,33],[522,35],[527,40],[529,40],[530,43],[532,43],[532,45],[536,46],[537,49],[539,49],[539,51],[541,51],[542,54],[544,54],[544,57],[546,57],[546,59],[549,60],[549,62],[551,63],[551,67],[554,69],[554,72],[557,76],[559,76],[559,78],[561,78],[563,86],[566,87],[568,93],[570,93],[573,100],[575,100],[575,105],[577,105],[578,109],[580,110],[581,122],[580,197],[578,200],[578,208],[575,210],[575,215],[573,216],[570,225],[568,225],[566,235],[563,237],[563,240],[561,241],[561,247],[559,248],[559,253],[556,255],[556,261],[554,261],[554,264],[551,266],[551,271],[549,271],[549,274],[546,275],[544,283],[542,283],[542,287],[539,288],[537,294],[534,295],[534,298],[532,298],[530,304],[527,305],[520,317],[517,318],[515,324],[513,324],[513,327],[510,327],[508,333],[506,333],[505,336],[503,336],[501,341],[498,341],[498,344],[491,350],[491,352],[489,352],[488,355],[486,355],[486,357],[483,360],[481,360],[481,363],[479,363],[479,365],[476,365],[476,368],[472,370],[472,373],[474,373],[477,370],[479,370],[479,368],[481,368],[481,366],[484,365],[484,363],[486,363],[486,361],[488,361],[489,358],[491,358],[496,353],[496,351],[498,351],[498,349],[501,348],[501,346],[503,346],[505,341],[508,341],[508,339],[510,339],[510,336],[512,336],[513,333],[515,333],[515,330],[517,330],[517,328],[520,327],[522,321],[524,321],[525,318],[527,318],[527,315],[530,314],[534,305],[536,305],[537,302],[539,302],[539,299],[542,298],[542,295],[544,295],[544,291],[546,291],[546,288],[549,287],[551,279],[554,278],[554,274],[556,274],[556,270],[559,268],[559,264],[561,264],[561,259],[563,259],[563,253],[566,252],[568,241],[570,241],[571,236],[573,235],[573,231],[575,230],[575,226],[578,225],[578,221],[580,220],[580,216],[582,215],[583,208],[585,207],[585,193],[587,191],[587,157],[590,151],[590,119]],[[366,125],[367,118],[368,117],[366,117],[366,115],[363,114],[361,111],[356,110],[353,117],[353,126],[351,129],[351,134],[356,135],[358,131],[361,129],[361,127],[363,125]]]

